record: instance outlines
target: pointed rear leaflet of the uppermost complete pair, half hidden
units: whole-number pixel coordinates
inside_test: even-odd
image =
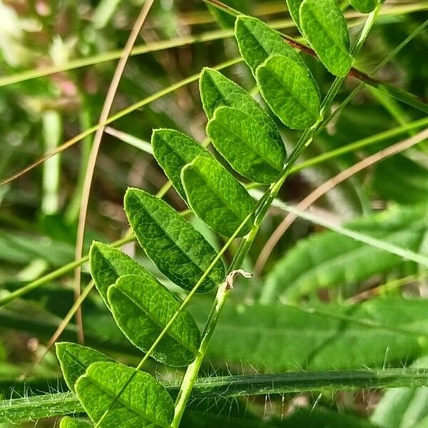
[[[286,56],[300,64],[310,74],[297,51],[292,49],[277,31],[271,29],[260,19],[252,16],[238,16],[235,24],[235,37],[238,41],[240,54],[254,75],[256,68],[272,55]]]

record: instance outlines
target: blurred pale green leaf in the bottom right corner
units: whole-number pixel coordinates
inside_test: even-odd
[[[412,364],[412,367],[419,370],[427,366],[427,357],[419,358]],[[370,419],[377,427],[382,428],[427,427],[428,387],[402,387],[387,391]]]

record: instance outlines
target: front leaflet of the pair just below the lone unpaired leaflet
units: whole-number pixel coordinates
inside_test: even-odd
[[[143,352],[153,345],[180,302],[153,275],[124,275],[108,289],[114,320],[128,340]],[[180,367],[195,359],[200,334],[193,317],[180,312],[151,353],[166,365]]]

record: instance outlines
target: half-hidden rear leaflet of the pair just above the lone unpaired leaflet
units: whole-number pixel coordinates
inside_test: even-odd
[[[193,138],[173,129],[155,129],[151,144],[156,161],[173,183],[175,190],[185,200],[185,191],[180,178],[181,169],[196,156],[210,158],[210,153]]]

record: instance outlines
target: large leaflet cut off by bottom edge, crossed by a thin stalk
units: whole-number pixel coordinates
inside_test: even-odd
[[[96,423],[109,409],[101,428],[164,427],[173,419],[174,404],[166,389],[150,374],[137,372],[116,404],[111,404],[135,370],[116,362],[95,362],[76,383],[76,393]]]

